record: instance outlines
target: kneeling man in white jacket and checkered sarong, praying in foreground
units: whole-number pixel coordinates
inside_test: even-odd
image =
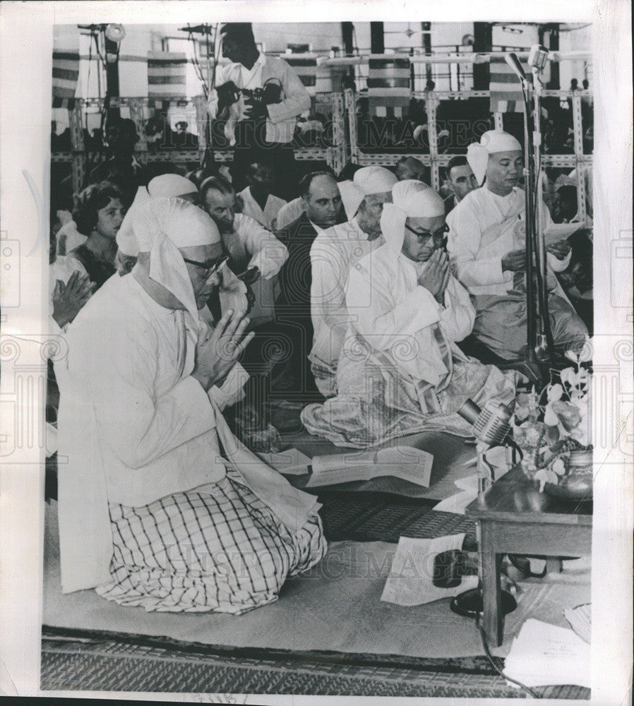
[[[148,206],[152,205],[151,202]],[[73,322],[61,390],[59,532],[64,592],[148,611],[241,614],[325,553],[313,496],[239,444],[217,385],[251,335],[198,312],[224,262],[213,220],[173,200],[140,253]],[[144,227],[145,223],[145,227]]]

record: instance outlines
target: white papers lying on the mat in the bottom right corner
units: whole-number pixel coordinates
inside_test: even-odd
[[[513,640],[504,674],[526,686],[590,688],[590,645],[569,628],[528,618]]]

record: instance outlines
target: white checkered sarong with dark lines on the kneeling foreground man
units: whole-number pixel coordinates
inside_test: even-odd
[[[292,534],[230,469],[195,491],[109,510],[112,581],[97,593],[146,611],[239,615],[275,601],[326,551],[318,516]]]

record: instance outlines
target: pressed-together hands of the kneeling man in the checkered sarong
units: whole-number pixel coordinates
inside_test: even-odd
[[[213,331],[205,330],[198,335],[196,364],[191,376],[203,386],[205,392],[213,385],[220,385],[244,349],[255,335],[245,335],[250,319],[243,311],[231,309],[218,321]]]

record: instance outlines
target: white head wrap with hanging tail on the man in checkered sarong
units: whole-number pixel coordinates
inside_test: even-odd
[[[132,229],[139,252],[150,253],[150,279],[174,294],[198,325],[198,306],[179,248],[220,242],[215,222],[181,198],[152,198],[139,205]]]

